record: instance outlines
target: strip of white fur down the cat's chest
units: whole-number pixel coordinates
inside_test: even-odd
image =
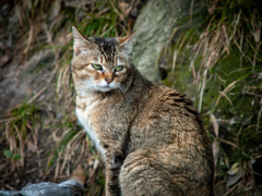
[[[94,140],[97,150],[99,150],[99,152],[102,154],[102,157],[105,159],[106,151],[100,146],[100,140],[97,137],[95,130],[92,127],[91,118],[90,118],[92,115],[92,111],[94,110],[94,107],[96,105],[95,98],[92,98],[92,96],[90,98],[85,98],[85,99],[76,98],[76,105],[83,105],[83,103],[86,106],[86,108],[84,110],[82,108],[78,108],[78,107],[75,109],[78,119],[79,119],[81,125],[87,132],[91,139]]]

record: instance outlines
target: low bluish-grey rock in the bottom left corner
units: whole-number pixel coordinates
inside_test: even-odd
[[[84,186],[74,180],[69,180],[60,184],[43,182],[38,184],[27,184],[20,192],[0,191],[0,196],[81,196],[84,194]]]

